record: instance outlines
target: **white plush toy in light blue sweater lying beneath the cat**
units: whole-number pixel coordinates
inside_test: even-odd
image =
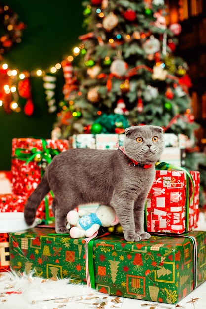
[[[96,213],[86,210],[71,210],[67,214],[67,228],[70,228],[72,238],[91,237],[102,227],[110,227],[118,224],[119,220],[113,208],[100,205]]]

